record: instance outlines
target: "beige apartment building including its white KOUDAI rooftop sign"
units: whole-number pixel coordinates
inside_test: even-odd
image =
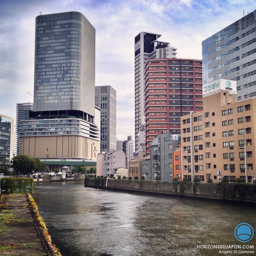
[[[256,99],[237,102],[235,81],[218,79],[203,85],[203,111],[181,118],[183,177],[252,182],[255,124]]]

